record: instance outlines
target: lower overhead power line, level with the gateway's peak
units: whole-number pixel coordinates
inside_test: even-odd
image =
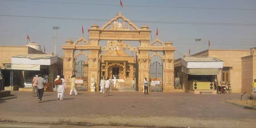
[[[61,19],[61,20],[91,20],[91,21],[109,21],[105,19],[82,19],[82,18],[63,18],[63,17],[47,17],[47,16],[21,16],[21,15],[3,15],[7,17],[26,17],[26,18],[46,18],[46,19]],[[207,22],[174,22],[174,21],[140,21],[131,20],[137,23],[163,23],[163,24],[185,24],[185,25],[224,25],[224,26],[256,26],[256,24],[243,24],[243,23],[207,23]]]

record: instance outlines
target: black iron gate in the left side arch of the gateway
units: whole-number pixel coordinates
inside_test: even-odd
[[[85,64],[83,60],[75,62],[75,75],[76,79],[83,80],[83,84],[77,84],[76,90],[87,91],[88,90],[88,64]]]

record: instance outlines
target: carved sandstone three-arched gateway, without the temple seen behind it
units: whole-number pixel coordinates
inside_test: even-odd
[[[118,19],[123,19],[123,24],[118,23]],[[64,77],[67,79],[67,88],[70,88],[70,77],[74,71],[74,60],[76,56],[83,54],[87,56],[87,61],[89,64],[89,83],[91,78],[95,77],[96,90],[99,88],[99,66],[102,52],[108,51],[108,47],[100,47],[100,40],[126,40],[126,41],[139,41],[140,46],[138,48],[131,47],[129,44],[123,44],[122,48],[129,49],[131,52],[136,52],[137,62],[139,64],[139,91],[143,90],[143,77],[149,77],[149,62],[152,56],[160,55],[158,52],[164,52],[161,58],[164,62],[164,77],[168,75],[173,75],[173,52],[176,47],[172,46],[171,42],[163,43],[156,38],[155,41],[150,41],[150,33],[146,25],[138,28],[129,19],[125,18],[121,12],[118,15],[109,20],[101,28],[96,24],[93,24],[89,32],[89,41],[81,36],[75,43],[68,39],[62,48],[65,53],[64,60]],[[159,45],[156,45],[159,44]],[[82,50],[74,55],[74,51]],[[89,51],[90,54],[86,54],[84,51]],[[155,51],[153,55],[149,56],[150,51]],[[106,65],[107,66],[107,65]],[[124,66],[124,65],[123,65]],[[125,66],[124,66],[125,68]],[[170,82],[164,80],[164,92],[171,92],[173,87],[173,80]],[[89,90],[90,91],[90,90]]]

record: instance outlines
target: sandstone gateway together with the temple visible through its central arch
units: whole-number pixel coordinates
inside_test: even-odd
[[[174,92],[173,53],[176,47],[172,46],[170,41],[164,43],[156,37],[155,41],[149,42],[151,31],[148,30],[148,27],[143,25],[138,28],[121,12],[101,28],[93,24],[88,32],[89,40],[81,36],[75,42],[68,39],[66,44],[62,45],[65,54],[63,75],[67,81],[67,89],[70,89],[70,78],[75,73],[75,60],[78,55],[87,57],[84,60],[85,65],[88,65],[85,81],[88,84],[94,78],[96,86],[94,91],[96,92],[99,91],[100,77],[112,78],[113,75],[118,76],[119,81],[127,83],[132,83],[132,79],[135,79],[137,90],[143,91],[142,82],[145,77],[149,78],[151,58],[159,56],[163,62],[163,92]],[[107,40],[107,46],[99,46],[100,40]],[[125,41],[139,41],[140,46],[131,47],[129,44],[125,44]],[[126,49],[135,53],[136,59],[128,55],[125,52]],[[75,54],[75,51],[79,52]],[[85,51],[89,51],[89,54]],[[149,52],[153,53],[149,54]],[[163,52],[164,55],[158,52]],[[88,84],[88,91],[91,91],[90,89],[90,84]]]

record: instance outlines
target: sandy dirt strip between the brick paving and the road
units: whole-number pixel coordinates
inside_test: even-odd
[[[78,126],[132,126],[132,127],[163,127],[163,128],[220,128],[226,121],[226,128],[252,127],[255,119],[230,118],[190,118],[176,116],[108,116],[108,115],[79,115],[72,117],[59,116],[17,116],[1,113],[0,122],[19,122],[36,124],[62,124]],[[239,125],[238,125],[239,124]]]

